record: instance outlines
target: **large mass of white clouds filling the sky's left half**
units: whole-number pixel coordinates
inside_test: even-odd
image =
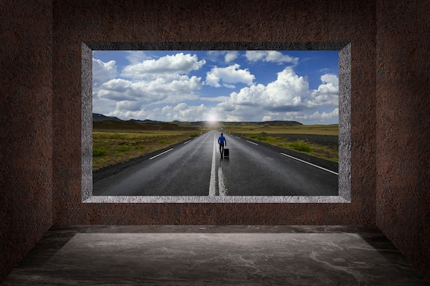
[[[93,60],[97,79],[93,82],[93,100],[99,109],[101,103],[106,107],[113,105],[112,115],[142,117],[147,112],[142,109],[144,106],[178,104],[199,98],[195,92],[203,86],[201,78],[187,75],[205,64],[196,55],[177,53],[148,60],[142,51],[133,51],[126,58],[131,64],[123,69],[123,78],[115,78],[115,61]]]

